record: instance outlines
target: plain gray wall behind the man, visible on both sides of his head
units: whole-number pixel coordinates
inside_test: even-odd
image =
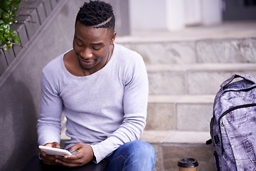
[[[50,60],[72,48],[75,16],[83,2],[61,0],[61,9],[51,13],[26,51],[0,77],[0,170],[20,170],[38,154],[36,122],[40,113],[41,71]],[[125,14],[128,0],[111,3],[117,21],[123,22],[117,24],[117,32],[129,34],[129,18]],[[125,9],[123,14],[121,6]]]

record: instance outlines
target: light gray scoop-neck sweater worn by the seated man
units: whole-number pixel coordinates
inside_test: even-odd
[[[67,117],[68,149],[91,145],[96,162],[125,142],[138,140],[146,125],[148,78],[139,53],[114,44],[110,61],[90,76],[73,76],[63,56],[43,68],[38,143],[60,142],[60,118]]]

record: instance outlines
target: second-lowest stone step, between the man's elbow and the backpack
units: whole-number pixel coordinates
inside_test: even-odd
[[[149,95],[146,130],[210,131],[215,95]]]

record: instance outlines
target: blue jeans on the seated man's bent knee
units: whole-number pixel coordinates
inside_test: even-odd
[[[156,152],[148,142],[134,140],[121,145],[107,159],[107,171],[149,171],[154,169]]]

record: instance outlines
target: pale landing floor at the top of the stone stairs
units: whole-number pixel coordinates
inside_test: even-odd
[[[195,41],[205,38],[241,38],[256,36],[256,21],[223,22],[213,26],[190,26],[179,31],[132,31],[131,36],[119,37],[127,41]]]

